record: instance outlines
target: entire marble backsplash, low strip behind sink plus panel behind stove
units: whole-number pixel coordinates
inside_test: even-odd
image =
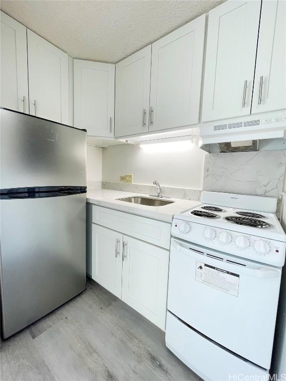
[[[286,151],[258,151],[208,154],[205,157],[203,191],[239,193],[278,198],[281,194],[286,169]],[[88,189],[156,194],[153,185],[119,182],[87,182]],[[202,190],[161,187],[162,195],[200,200]]]

